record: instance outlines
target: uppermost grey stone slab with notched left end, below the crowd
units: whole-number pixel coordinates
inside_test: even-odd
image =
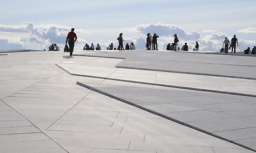
[[[90,55],[125,58],[123,62],[117,65],[124,68],[158,69],[181,73],[256,78],[255,57],[248,56],[184,54],[182,52],[149,50],[104,52]]]

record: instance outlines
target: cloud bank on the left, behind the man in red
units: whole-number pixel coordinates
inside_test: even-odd
[[[27,34],[28,37],[27,40],[26,38],[21,37],[0,37],[0,49],[31,49],[26,45],[26,41],[29,44],[35,44],[38,49],[48,48],[52,43],[63,44],[66,41],[67,33],[70,29],[71,27],[62,25],[35,25],[31,22],[27,22],[25,25],[0,25],[1,33],[17,33],[17,35],[22,33],[22,36]],[[79,39],[77,41],[77,43],[84,42],[85,41],[83,39]]]

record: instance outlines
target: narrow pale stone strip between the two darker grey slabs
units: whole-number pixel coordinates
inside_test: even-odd
[[[226,92],[227,94],[256,96],[256,80],[92,66],[69,68],[70,66],[67,66],[67,64],[57,65],[71,75],[77,76],[177,87],[196,91]]]

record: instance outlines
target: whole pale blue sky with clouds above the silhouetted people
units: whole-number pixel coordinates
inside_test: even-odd
[[[77,34],[75,50],[85,43],[105,49],[123,33],[124,43],[146,49],[147,33],[157,33],[159,49],[185,42],[189,50],[198,41],[202,51],[219,51],[225,37],[234,34],[238,50],[256,45],[255,0],[8,0],[1,2],[0,50],[48,50],[52,43],[65,45],[72,27]]]

